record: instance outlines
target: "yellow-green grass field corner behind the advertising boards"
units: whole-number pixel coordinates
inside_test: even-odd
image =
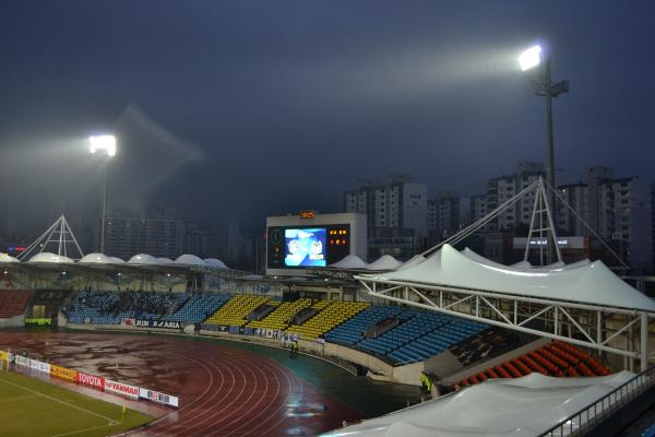
[[[0,371],[0,436],[99,437],[153,417],[13,371]]]

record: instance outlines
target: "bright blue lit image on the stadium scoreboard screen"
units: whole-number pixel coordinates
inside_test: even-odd
[[[285,229],[287,267],[325,267],[326,232],[324,227]]]

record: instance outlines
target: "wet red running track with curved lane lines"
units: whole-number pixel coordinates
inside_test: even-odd
[[[180,409],[158,409],[164,415],[130,436],[313,436],[364,418],[272,358],[204,341],[0,332],[7,347],[180,397]]]

